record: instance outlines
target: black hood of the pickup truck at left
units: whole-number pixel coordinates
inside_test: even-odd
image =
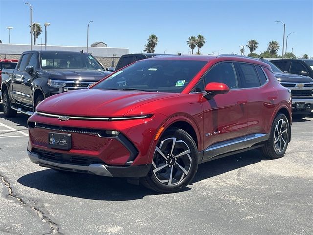
[[[76,70],[76,69],[51,69],[45,70],[46,73],[51,75],[52,79],[58,80],[91,80],[99,81],[108,76],[112,72],[98,71],[98,70]]]

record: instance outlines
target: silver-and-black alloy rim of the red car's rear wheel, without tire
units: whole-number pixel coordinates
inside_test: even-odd
[[[274,132],[274,145],[277,152],[285,150],[288,141],[288,124],[284,119],[280,119]]]

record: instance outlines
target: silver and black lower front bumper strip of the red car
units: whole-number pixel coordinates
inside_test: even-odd
[[[42,159],[40,154],[30,152],[28,150],[27,153],[33,163],[39,164],[42,167],[81,173],[91,173],[109,177],[144,177],[148,174],[151,168],[151,164],[134,166],[108,166],[105,164],[90,164],[86,166],[79,164],[65,164]]]

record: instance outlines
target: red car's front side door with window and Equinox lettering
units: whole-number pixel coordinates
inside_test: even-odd
[[[242,149],[247,134],[247,96],[241,88],[232,62],[220,62],[204,75],[204,84],[221,82],[230,91],[215,95],[201,103],[204,112],[204,158],[208,160],[221,153]]]

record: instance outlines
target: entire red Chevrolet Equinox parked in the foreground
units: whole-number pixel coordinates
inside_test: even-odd
[[[206,161],[253,148],[282,157],[291,112],[291,92],[259,60],[155,57],[42,101],[28,120],[28,155],[58,171],[175,192]]]

